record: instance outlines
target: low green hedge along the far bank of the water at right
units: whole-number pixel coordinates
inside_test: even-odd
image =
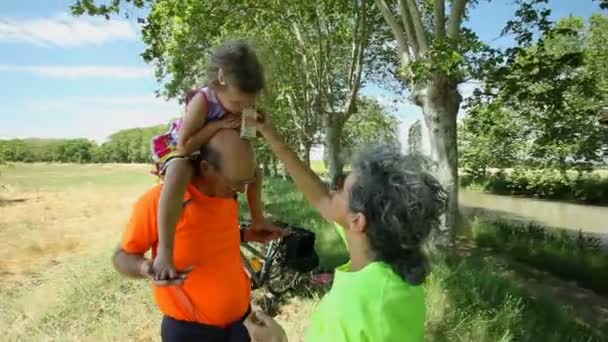
[[[556,170],[500,171],[485,177],[461,177],[465,188],[488,191],[498,195],[535,197],[608,205],[608,178],[593,173],[568,173]]]

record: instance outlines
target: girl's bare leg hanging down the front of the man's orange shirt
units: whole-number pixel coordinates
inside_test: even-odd
[[[194,169],[187,159],[171,161],[165,170],[165,179],[158,203],[158,250],[154,259],[154,274],[158,280],[177,277],[173,265],[175,227],[182,214],[184,194]]]

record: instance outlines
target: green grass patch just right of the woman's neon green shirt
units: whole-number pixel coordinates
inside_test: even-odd
[[[435,261],[427,283],[430,341],[605,341],[607,325],[586,325],[551,295],[494,258],[472,254]]]

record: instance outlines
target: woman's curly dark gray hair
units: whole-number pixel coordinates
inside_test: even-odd
[[[352,164],[349,207],[365,215],[367,236],[378,260],[412,285],[429,267],[422,246],[444,212],[446,193],[425,171],[421,157],[394,146],[374,146]]]

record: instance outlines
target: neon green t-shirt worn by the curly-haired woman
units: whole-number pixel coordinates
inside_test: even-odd
[[[342,238],[342,228],[336,225]],[[426,315],[422,286],[403,281],[383,262],[352,272],[336,269],[306,334],[308,342],[423,341]]]

